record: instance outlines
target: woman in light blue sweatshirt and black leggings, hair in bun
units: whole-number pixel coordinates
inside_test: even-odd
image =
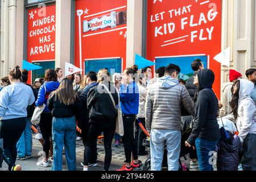
[[[0,92],[0,139],[3,139],[3,153],[9,171],[20,171],[15,165],[17,150],[16,144],[27,125],[27,106],[35,101],[30,86],[23,84],[19,66],[9,73],[11,85]]]

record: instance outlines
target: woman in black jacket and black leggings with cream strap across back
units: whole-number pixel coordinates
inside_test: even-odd
[[[87,99],[87,107],[90,110],[90,126],[85,146],[84,171],[88,171],[92,148],[95,140],[103,132],[105,160],[104,170],[108,171],[112,160],[112,140],[115,133],[115,119],[117,118],[118,93],[110,83],[108,70],[101,69],[98,72],[99,85],[90,89]]]

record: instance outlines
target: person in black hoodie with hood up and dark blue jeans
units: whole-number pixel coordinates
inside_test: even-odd
[[[216,144],[220,139],[217,122],[218,99],[212,90],[214,73],[210,69],[203,69],[194,77],[197,86],[195,94],[195,122],[185,146],[196,144],[198,162],[201,171],[213,171],[212,157]]]

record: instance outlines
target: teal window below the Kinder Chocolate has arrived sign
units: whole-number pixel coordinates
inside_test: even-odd
[[[34,62],[33,64],[38,65],[43,69],[32,71],[32,82],[34,82],[36,78],[43,78],[46,73],[46,69],[55,69],[55,61]]]

